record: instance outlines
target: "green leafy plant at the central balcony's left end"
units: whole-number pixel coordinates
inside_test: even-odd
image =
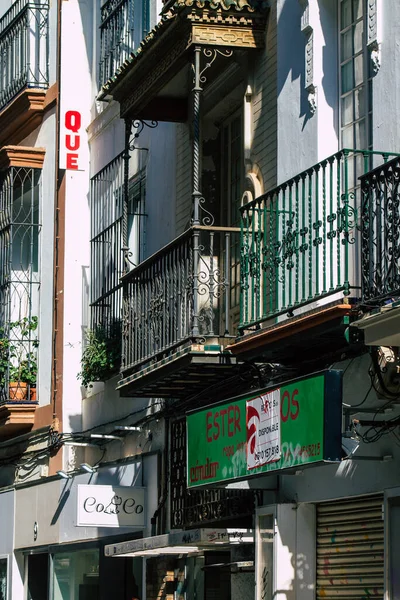
[[[106,381],[118,372],[121,364],[121,327],[116,322],[108,331],[98,326],[87,333],[86,346],[77,378],[84,387]]]

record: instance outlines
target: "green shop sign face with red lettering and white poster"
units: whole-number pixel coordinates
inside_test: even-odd
[[[342,372],[323,371],[187,416],[189,488],[341,455]]]

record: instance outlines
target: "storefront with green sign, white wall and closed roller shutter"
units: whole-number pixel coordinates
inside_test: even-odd
[[[361,451],[348,456],[341,372],[194,411],[187,439],[189,490],[239,481],[263,489],[276,475],[275,493],[255,510],[249,598],[398,597],[398,445],[359,438]]]

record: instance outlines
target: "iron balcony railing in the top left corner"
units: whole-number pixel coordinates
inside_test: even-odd
[[[0,19],[0,110],[26,87],[48,87],[48,12],[48,2],[17,0]]]

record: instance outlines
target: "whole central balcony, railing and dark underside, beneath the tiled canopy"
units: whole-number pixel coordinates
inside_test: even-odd
[[[122,396],[188,397],[235,368],[239,229],[187,230],[123,278]]]

